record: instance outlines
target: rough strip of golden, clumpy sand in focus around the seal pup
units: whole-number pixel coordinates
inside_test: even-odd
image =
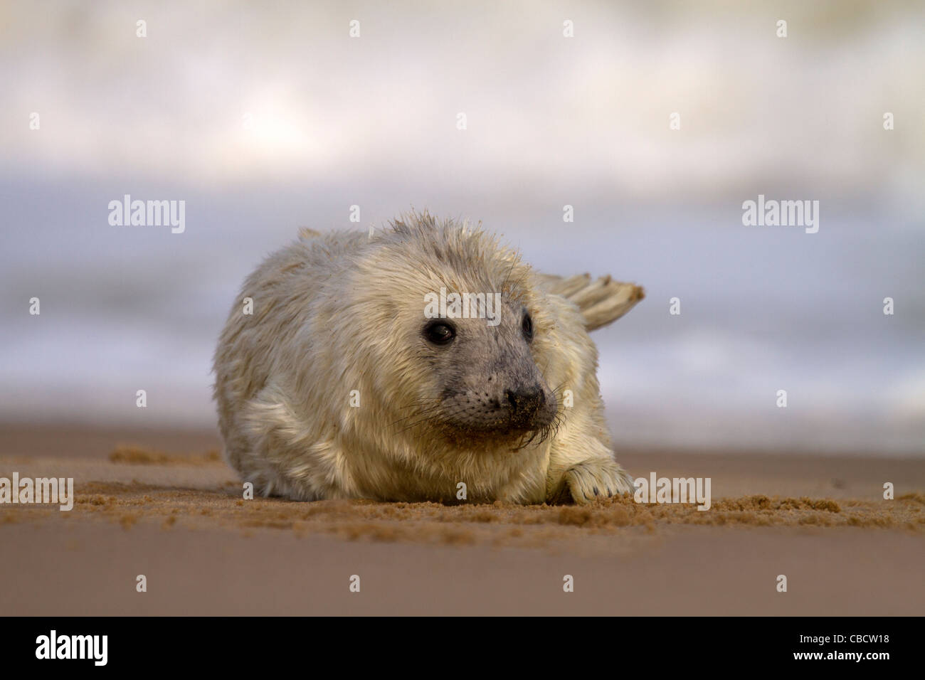
[[[325,534],[348,540],[493,545],[542,548],[561,541],[632,533],[657,534],[672,525],[736,527],[869,527],[925,531],[925,495],[914,492],[894,501],[768,496],[718,498],[709,511],[694,503],[636,503],[631,496],[586,506],[382,503],[375,501],[294,502],[244,500],[240,482],[228,479],[216,451],[179,456],[118,446],[109,466],[139,472],[139,480],[77,480],[74,510],[11,505],[0,523],[104,521],[129,529],[139,522],[164,530],[290,531],[302,537]],[[203,483],[145,481],[148,470],[208,468]],[[103,468],[105,471],[105,468]],[[94,470],[98,472],[98,470]],[[205,470],[203,470],[205,472]],[[223,478],[223,481],[216,482]],[[208,481],[208,480],[211,480]]]

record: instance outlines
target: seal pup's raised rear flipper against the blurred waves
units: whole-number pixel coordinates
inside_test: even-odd
[[[646,297],[635,283],[614,281],[609,276],[592,280],[587,274],[570,278],[540,274],[539,279],[547,291],[578,305],[589,331],[613,323]]]

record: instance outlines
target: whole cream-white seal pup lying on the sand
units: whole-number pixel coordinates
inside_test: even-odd
[[[302,229],[245,280],[218,341],[225,456],[257,492],[298,501],[630,492],[588,331],[642,297],[540,274],[427,213],[372,235]]]

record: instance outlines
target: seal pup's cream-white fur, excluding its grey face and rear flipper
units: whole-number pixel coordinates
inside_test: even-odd
[[[228,462],[265,495],[303,501],[455,501],[460,482],[468,501],[630,491],[611,453],[586,319],[549,292],[562,280],[536,274],[480,229],[427,215],[372,238],[303,231],[246,279],[241,298],[253,298],[253,315],[235,303],[218,343]],[[450,445],[416,417],[438,399],[420,343],[424,293],[441,286],[503,291],[530,310],[530,352],[560,400],[547,439]]]

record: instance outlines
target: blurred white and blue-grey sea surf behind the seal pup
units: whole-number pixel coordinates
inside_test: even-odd
[[[350,229],[352,204],[361,229],[414,206],[482,220],[543,271],[646,288],[594,336],[619,443],[925,454],[921,5],[0,18],[0,420],[211,426],[211,354],[253,266],[298,227]],[[185,200],[185,233],[109,226],[125,193]],[[744,227],[759,193],[819,200],[819,233]]]

